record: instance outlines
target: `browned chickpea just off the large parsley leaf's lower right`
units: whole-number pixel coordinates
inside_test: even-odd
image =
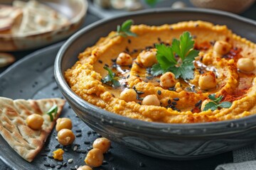
[[[216,77],[213,72],[201,74],[198,81],[199,87],[202,90],[213,89],[217,86]]]

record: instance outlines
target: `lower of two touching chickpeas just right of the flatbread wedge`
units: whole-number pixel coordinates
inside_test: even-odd
[[[69,129],[62,129],[58,132],[58,142],[61,145],[70,145],[74,142],[75,135]]]

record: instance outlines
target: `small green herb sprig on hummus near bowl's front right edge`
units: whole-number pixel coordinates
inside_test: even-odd
[[[203,111],[208,111],[209,109],[211,111],[215,111],[218,108],[230,108],[230,106],[232,106],[232,103],[229,101],[223,101],[220,103],[220,101],[223,99],[223,96],[216,98],[215,94],[210,94],[208,98],[210,98],[212,101],[206,104],[206,106],[203,108]]]

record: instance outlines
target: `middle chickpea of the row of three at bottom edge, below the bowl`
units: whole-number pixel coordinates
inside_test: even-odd
[[[85,157],[85,163],[92,167],[101,166],[103,162],[102,150],[93,148],[91,149]]]

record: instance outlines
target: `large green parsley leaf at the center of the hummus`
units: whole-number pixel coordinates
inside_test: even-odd
[[[195,41],[191,34],[186,31],[180,36],[180,40],[174,39],[171,46],[164,44],[156,45],[156,60],[151,68],[151,74],[158,76],[165,72],[173,72],[176,78],[193,79],[193,61],[199,51],[193,50]],[[178,56],[178,60],[176,57]]]

